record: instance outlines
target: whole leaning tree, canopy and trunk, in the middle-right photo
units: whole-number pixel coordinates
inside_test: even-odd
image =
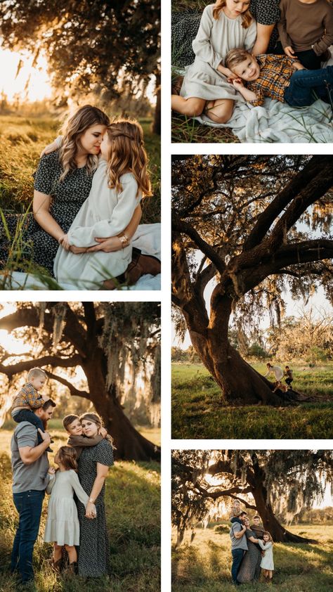
[[[189,330],[226,399],[280,398],[231,347],[230,318],[243,332],[263,309],[280,323],[287,286],[304,297],[322,285],[332,302],[332,165],[330,155],[173,157],[176,324]]]

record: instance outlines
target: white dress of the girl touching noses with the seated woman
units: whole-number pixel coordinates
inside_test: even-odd
[[[126,228],[140,202],[138,184],[133,174],[122,175],[122,192],[107,186],[107,163],[100,159],[86,199],[67,233],[70,245],[91,247],[95,238],[116,236]],[[59,247],[54,259],[54,275],[58,283],[70,281],[81,290],[99,290],[105,279],[123,274],[131,262],[132,247],[115,252],[96,251],[75,255]]]

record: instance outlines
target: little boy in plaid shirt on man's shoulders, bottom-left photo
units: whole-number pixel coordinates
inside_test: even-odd
[[[38,444],[43,442],[39,430],[45,432],[44,425],[41,419],[32,411],[32,409],[39,409],[42,407],[50,397],[39,394],[39,391],[44,387],[47,380],[46,373],[41,368],[32,368],[27,375],[27,382],[15,396],[13,406],[11,408],[11,416],[16,423],[21,421],[28,421],[37,427]],[[51,440],[53,442],[53,440]],[[51,448],[46,449],[52,452]]]

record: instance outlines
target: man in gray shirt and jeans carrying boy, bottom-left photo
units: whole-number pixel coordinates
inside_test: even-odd
[[[55,403],[48,399],[34,413],[48,422]],[[22,421],[15,428],[11,439],[11,463],[13,470],[13,499],[20,517],[11,555],[11,572],[19,572],[22,583],[33,581],[32,553],[36,542],[41,508],[48,483],[48,458],[46,449],[51,437],[39,430],[43,442],[38,444],[37,427]]]

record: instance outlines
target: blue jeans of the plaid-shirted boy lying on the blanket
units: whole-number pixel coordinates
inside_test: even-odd
[[[318,98],[333,100],[333,66],[321,70],[296,70],[285,89],[285,101],[292,107],[312,105]]]

